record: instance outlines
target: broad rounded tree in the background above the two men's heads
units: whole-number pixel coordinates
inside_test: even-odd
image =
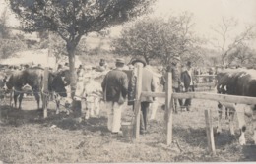
[[[141,55],[149,63],[160,59],[167,65],[174,56],[191,52],[196,43],[192,15],[179,17],[144,18],[124,27],[121,36],[112,41],[113,52],[125,56]],[[191,53],[189,53],[191,55]]]

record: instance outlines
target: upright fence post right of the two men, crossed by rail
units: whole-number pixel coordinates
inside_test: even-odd
[[[165,87],[165,122],[166,122],[166,135],[167,135],[167,145],[171,144],[172,142],[172,104],[173,100],[171,98],[172,94],[172,74],[167,74],[167,81],[166,81],[166,87]]]

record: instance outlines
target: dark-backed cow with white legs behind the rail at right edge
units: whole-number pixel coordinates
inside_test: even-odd
[[[224,70],[217,74],[217,91],[220,94],[229,94],[237,96],[249,96],[256,97],[256,70]],[[238,125],[240,129],[239,143],[244,145],[246,143],[244,134],[246,131],[246,125],[244,116],[256,117],[255,105],[244,105],[236,103],[219,102],[219,119],[217,133],[221,133],[221,119],[224,107],[230,110],[229,113],[229,126],[230,133],[234,135],[234,114],[237,114]],[[256,144],[256,121],[254,120],[254,143]]]

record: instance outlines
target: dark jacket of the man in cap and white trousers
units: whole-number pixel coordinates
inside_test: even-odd
[[[109,71],[101,83],[104,100],[123,104],[128,92],[128,78],[119,69]]]

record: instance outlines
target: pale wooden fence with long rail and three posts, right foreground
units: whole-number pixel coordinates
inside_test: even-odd
[[[217,93],[206,93],[206,92],[187,92],[187,93],[172,93],[172,79],[171,73],[167,73],[167,81],[166,81],[166,92],[142,92],[142,66],[137,68],[137,87],[136,87],[136,101],[135,101],[135,118],[136,118],[136,126],[134,138],[135,141],[139,139],[140,134],[140,99],[141,97],[164,97],[165,98],[165,126],[166,126],[166,143],[169,145],[172,142],[172,115],[173,115],[173,99],[185,99],[185,98],[193,98],[193,99],[205,99],[205,100],[213,100],[213,101],[221,101],[221,102],[230,102],[230,103],[240,103],[240,104],[256,104],[256,98],[254,97],[245,97],[245,96],[233,96],[233,95],[224,95]],[[213,120],[212,120],[212,111],[210,109],[205,110],[205,121],[206,121],[206,132],[207,132],[207,140],[208,147],[210,152],[216,154],[215,150],[215,140],[214,140],[214,131],[213,131]],[[202,111],[203,112],[203,111]]]

